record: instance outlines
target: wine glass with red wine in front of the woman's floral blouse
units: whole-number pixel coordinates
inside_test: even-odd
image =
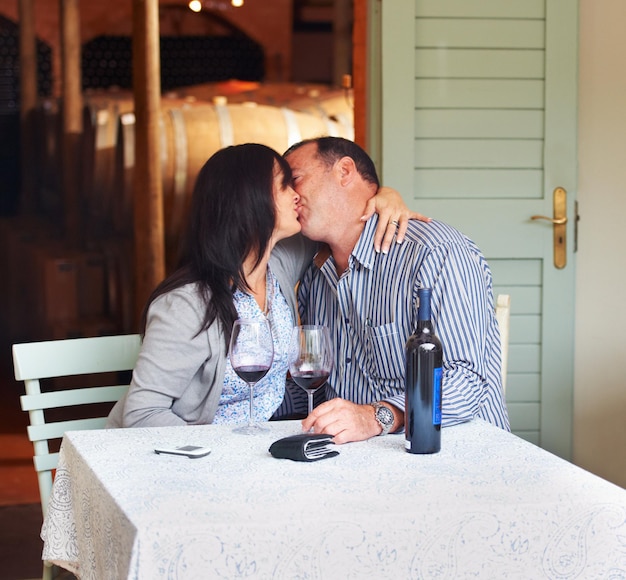
[[[253,391],[270,370],[274,360],[272,330],[266,319],[239,318],[233,324],[229,348],[230,364],[237,375],[248,383],[250,389],[250,418],[247,425],[233,429],[236,433],[253,435],[267,431],[254,422]]]

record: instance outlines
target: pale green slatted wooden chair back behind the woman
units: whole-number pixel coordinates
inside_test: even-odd
[[[13,345],[15,378],[24,381],[26,390],[26,394],[20,397],[20,403],[22,410],[28,412],[30,419],[27,428],[28,438],[33,442],[33,461],[44,516],[52,489],[52,472],[56,469],[59,458],[58,452],[50,452],[49,441],[62,438],[66,431],[104,427],[106,416],[93,417],[94,407],[85,405],[114,403],[124,395],[128,384],[111,386],[87,384],[75,388],[59,388],[58,384],[49,386],[48,383],[51,381],[42,383],[42,379],[89,375],[83,377],[85,383],[98,380],[101,383],[107,382],[103,379],[108,379],[108,382],[111,382],[111,379],[113,382],[119,382],[116,374],[112,377],[109,375],[99,378],[97,375],[131,371],[137,361],[140,346],[141,338],[138,334]],[[76,410],[72,409],[72,415],[78,413],[83,418],[55,421],[46,419],[47,411],[60,407],[76,407]],[[90,412],[91,416],[84,418]],[[108,413],[108,410],[106,412]],[[101,409],[100,413],[102,414]]]

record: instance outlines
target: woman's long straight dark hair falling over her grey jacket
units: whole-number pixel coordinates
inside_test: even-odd
[[[233,293],[249,290],[244,261],[254,255],[258,265],[276,224],[276,165],[286,187],[292,180],[289,164],[265,145],[226,147],[204,164],[193,190],[178,266],[150,295],[142,315],[142,333],[148,308],[156,298],[196,282],[206,304],[198,333],[217,319],[228,345],[237,319]]]

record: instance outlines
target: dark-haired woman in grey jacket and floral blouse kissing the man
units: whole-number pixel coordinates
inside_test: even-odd
[[[228,147],[205,163],[179,266],[148,300],[131,386],[107,427],[247,421],[249,390],[228,359],[239,317],[271,317],[274,362],[254,389],[254,408],[258,420],[272,416],[285,391],[293,289],[316,249],[294,236],[291,182],[287,162],[265,145]]]

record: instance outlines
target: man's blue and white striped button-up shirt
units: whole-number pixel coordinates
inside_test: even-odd
[[[442,425],[474,417],[510,429],[489,266],[476,245],[441,222],[409,221],[402,244],[374,250],[372,217],[338,276],[318,254],[298,290],[302,324],[330,328],[335,368],[327,398],[388,401],[404,410],[405,345],[417,328],[419,288],[443,346]]]

